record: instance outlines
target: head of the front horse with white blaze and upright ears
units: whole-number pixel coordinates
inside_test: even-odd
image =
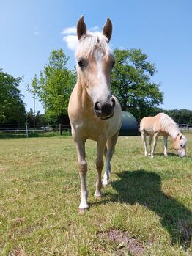
[[[111,95],[111,70],[114,57],[108,42],[111,39],[112,23],[108,18],[103,33],[87,33],[84,17],[77,25],[78,46],[76,50],[78,79],[92,102],[97,117],[113,116],[115,100]]]

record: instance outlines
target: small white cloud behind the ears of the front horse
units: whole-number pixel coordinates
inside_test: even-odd
[[[99,32],[99,27],[94,26],[90,30],[90,32]],[[76,36],[76,27],[70,26],[68,28],[65,28],[62,30],[62,34],[64,34],[64,37],[62,40],[67,43],[67,48],[69,48],[72,51],[75,51],[76,45],[78,43],[78,37]]]

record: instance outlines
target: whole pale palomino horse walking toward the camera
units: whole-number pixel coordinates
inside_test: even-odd
[[[75,84],[68,106],[68,114],[78,154],[78,171],[81,179],[80,212],[89,208],[86,189],[86,139],[97,142],[97,182],[95,197],[101,197],[101,172],[103,156],[106,156],[106,172],[103,185],[108,184],[111,171],[111,158],[122,124],[122,109],[117,98],[111,95],[111,70],[114,57],[108,42],[111,39],[112,23],[108,18],[103,33],[88,33],[82,16],[77,24],[78,80]]]

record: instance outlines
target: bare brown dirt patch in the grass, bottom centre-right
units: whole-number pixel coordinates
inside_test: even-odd
[[[118,255],[125,255],[129,252],[130,255],[139,256],[144,254],[144,247],[141,241],[133,238],[128,231],[108,230],[105,233],[99,232],[97,236],[103,239],[109,239],[117,245]]]

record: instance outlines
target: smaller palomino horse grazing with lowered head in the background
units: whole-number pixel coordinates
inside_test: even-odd
[[[173,139],[173,147],[179,156],[186,155],[187,139],[181,134],[177,124],[167,114],[159,113],[155,117],[144,117],[140,122],[141,138],[144,142],[144,155],[147,156],[146,137],[149,134],[149,156],[153,157],[158,136],[164,136],[164,155],[167,156],[167,137]],[[151,142],[153,138],[152,152]]]

